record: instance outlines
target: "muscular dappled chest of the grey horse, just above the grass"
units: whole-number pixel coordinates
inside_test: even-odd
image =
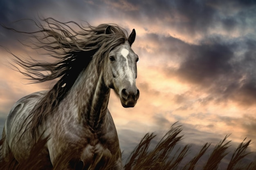
[[[61,126],[63,125],[59,128]],[[90,165],[97,159],[104,163],[119,155],[118,137],[112,128],[106,131],[92,131],[89,127],[70,125],[70,128],[58,130],[49,140],[48,146],[53,164],[61,155],[69,155],[74,151],[71,159],[75,162],[82,160],[85,165]]]

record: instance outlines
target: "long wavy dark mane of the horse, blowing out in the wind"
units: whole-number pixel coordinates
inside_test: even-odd
[[[29,47],[44,49],[58,61],[49,63],[34,59],[21,60],[13,55],[16,64],[25,70],[21,71],[17,67],[18,71],[32,80],[32,83],[59,80],[34,106],[23,123],[26,130],[30,130],[32,140],[36,138],[38,126],[46,120],[48,115],[54,113],[54,109],[72,88],[79,73],[88,66],[92,57],[96,57],[97,67],[101,68],[104,57],[127,40],[127,31],[115,24],[111,24],[111,34],[106,34],[109,24],[91,26],[86,22],[87,26],[81,26],[73,21],[64,23],[53,18],[44,19],[42,23],[33,22],[38,31],[29,33],[11,30],[27,33],[33,42],[33,46]]]

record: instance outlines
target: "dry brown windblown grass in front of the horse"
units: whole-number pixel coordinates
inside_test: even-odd
[[[178,147],[179,142],[182,140],[183,135],[181,126],[175,124],[171,126],[171,129],[160,139],[157,145],[152,148],[152,142],[155,140],[156,135],[153,133],[147,133],[132,151],[130,157],[126,161],[125,170],[219,170],[220,163],[225,156],[229,153],[231,141],[226,141],[226,136],[219,144],[217,144],[210,154],[206,155],[206,151],[209,150],[210,143],[206,143],[202,146],[201,150],[193,156],[190,161],[185,159],[189,154],[190,146],[185,145]],[[245,139],[246,140],[246,139]],[[246,149],[248,148],[251,140],[243,141],[234,150],[231,159],[226,170],[256,170],[256,160],[250,163],[243,164],[243,159],[249,154]],[[12,156],[10,156],[9,162],[0,161],[0,170],[64,170],[68,166],[68,156],[65,155],[62,161],[58,163],[56,167],[46,165],[47,159],[42,159],[40,154],[45,152],[43,147],[47,140],[41,140],[35,146],[28,161],[23,163],[17,163]],[[0,146],[2,141],[0,141]],[[70,152],[70,155],[75,154],[75,150]],[[202,157],[207,157],[207,161],[203,163],[204,166],[198,166],[198,161]],[[201,160],[202,161],[202,160]],[[108,170],[107,167],[95,168],[92,165],[88,170],[102,169]]]

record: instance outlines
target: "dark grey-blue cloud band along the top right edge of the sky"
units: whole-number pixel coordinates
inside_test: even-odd
[[[255,26],[256,3],[254,1],[187,1],[187,0],[97,0],[95,4],[105,2],[115,10],[122,10],[124,19],[130,18],[137,23],[162,24],[170,26],[180,33],[189,35],[207,35],[213,29],[233,31]],[[126,3],[124,3],[126,2]],[[112,5],[119,4],[119,5]],[[126,4],[126,5],[125,5]],[[129,5],[130,4],[130,8]],[[130,10],[129,10],[130,9]],[[150,25],[145,28],[150,30]],[[255,28],[254,28],[255,29]]]

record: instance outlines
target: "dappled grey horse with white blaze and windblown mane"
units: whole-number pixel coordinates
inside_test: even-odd
[[[3,159],[12,154],[18,163],[25,161],[33,145],[47,138],[43,157],[52,167],[66,157],[66,170],[87,170],[95,163],[96,169],[124,170],[108,102],[110,89],[124,108],[134,107],[139,98],[135,81],[139,58],[131,49],[135,29],[127,36],[116,24],[43,21],[47,26],[35,22],[40,30],[29,33],[38,41],[33,48],[50,51],[47,54],[58,60],[22,60],[12,54],[13,60],[18,71],[34,82],[57,81],[49,91],[32,93],[13,105],[2,132]]]

